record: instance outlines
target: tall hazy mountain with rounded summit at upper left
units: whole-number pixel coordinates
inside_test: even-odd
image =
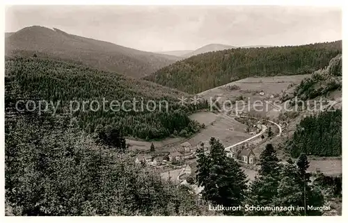
[[[42,58],[76,61],[136,78],[174,63],[178,58],[159,53],[139,51],[110,42],[93,40],[42,26],[23,28],[5,40],[7,56],[21,54]]]

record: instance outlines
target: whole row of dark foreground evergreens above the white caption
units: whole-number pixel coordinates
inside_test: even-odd
[[[320,207],[328,199],[342,198],[342,176],[313,174],[315,180],[312,181],[307,172],[310,162],[306,154],[301,154],[296,162],[289,159],[280,163],[276,149],[267,144],[260,155],[258,174],[248,184],[240,165],[226,156],[223,144],[215,138],[211,138],[209,143],[212,147],[210,154],[205,154],[203,148],[197,151],[196,181],[204,186],[202,198],[216,206],[244,207],[235,211],[223,210],[224,215],[322,215],[322,211],[308,206]],[[306,206],[306,210],[275,208],[289,206]],[[261,210],[261,207],[269,209]]]

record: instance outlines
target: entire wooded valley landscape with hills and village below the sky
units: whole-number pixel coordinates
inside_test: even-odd
[[[340,206],[341,53],[342,41],[152,53],[57,28],[7,33],[8,213]]]

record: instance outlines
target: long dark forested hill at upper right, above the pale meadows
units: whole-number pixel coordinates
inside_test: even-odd
[[[342,41],[294,47],[237,48],[177,61],[145,79],[198,93],[249,76],[308,74],[342,53]]]

